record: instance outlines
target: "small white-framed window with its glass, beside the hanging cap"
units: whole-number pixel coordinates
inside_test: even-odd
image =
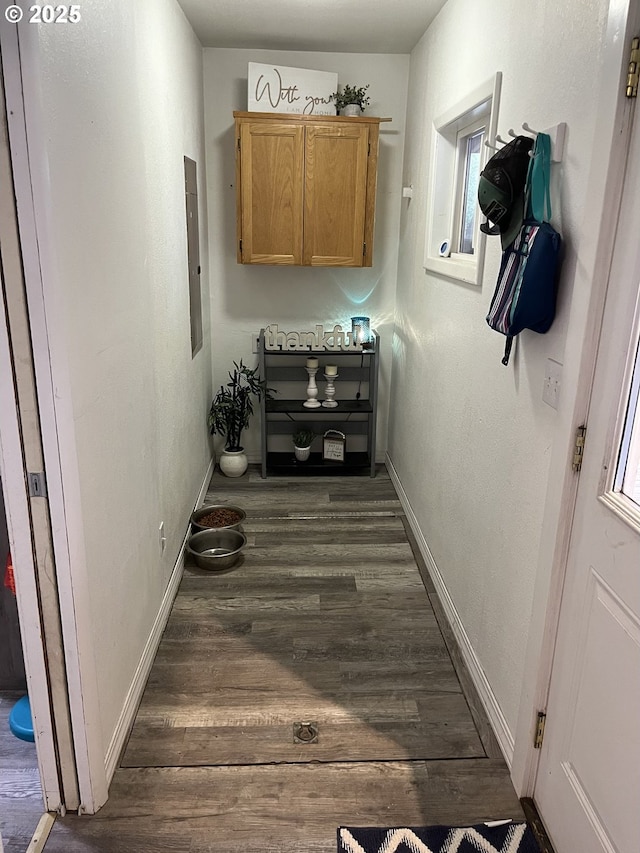
[[[495,137],[502,75],[480,86],[434,122],[425,269],[480,284],[485,235],[478,181]]]

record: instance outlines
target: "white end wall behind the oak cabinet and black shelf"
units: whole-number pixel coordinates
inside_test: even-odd
[[[250,61],[335,71],[339,84],[369,83],[371,104],[367,114],[393,118],[380,126],[376,229],[370,269],[251,267],[236,262],[233,111],[247,109]],[[234,359],[256,363],[256,356],[251,354],[251,334],[269,323],[277,322],[281,328],[291,330],[336,322],[350,328],[351,315],[368,315],[382,338],[379,458],[386,449],[408,67],[409,57],[397,55],[218,48],[204,51],[215,382],[226,379]],[[243,436],[243,444],[251,458],[259,458],[258,418]]]

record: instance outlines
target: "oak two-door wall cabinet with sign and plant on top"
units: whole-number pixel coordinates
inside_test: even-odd
[[[370,267],[381,118],[234,112],[238,263]]]

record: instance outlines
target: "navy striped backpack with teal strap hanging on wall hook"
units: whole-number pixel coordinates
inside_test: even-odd
[[[506,335],[502,363],[509,364],[515,335],[523,329],[544,334],[553,323],[560,271],[561,238],[549,224],[551,139],[539,133],[526,184],[527,217],[513,243],[502,253],[498,282],[487,323]]]

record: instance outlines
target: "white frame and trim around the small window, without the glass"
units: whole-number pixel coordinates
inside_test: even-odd
[[[466,147],[462,143],[483,126],[485,140],[495,139],[501,85],[502,73],[498,71],[433,123],[424,268],[465,284],[482,284],[486,235],[479,230],[482,217],[478,209],[475,252],[456,251],[464,192],[460,173],[466,162]],[[491,152],[486,145],[483,149],[484,167]],[[445,242],[453,251],[443,254],[441,247]]]

